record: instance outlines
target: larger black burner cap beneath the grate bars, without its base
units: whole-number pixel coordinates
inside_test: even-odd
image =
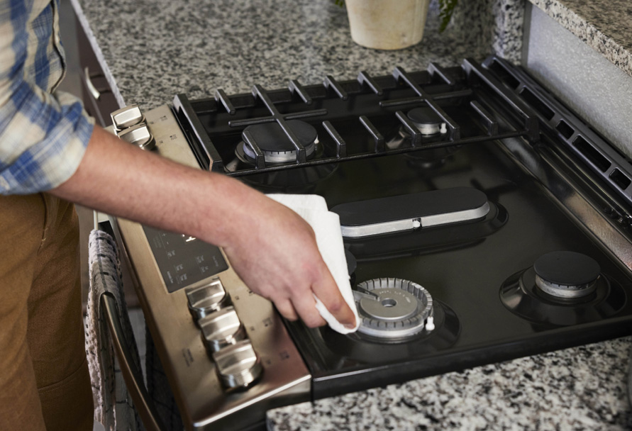
[[[299,120],[289,120],[286,122],[289,129],[294,132],[296,138],[299,139],[299,143],[304,147],[314,144],[317,133],[316,128],[309,123]],[[295,151],[296,148],[292,145],[281,125],[276,121],[274,123],[262,123],[249,125],[244,129],[244,132],[250,132],[257,145],[264,152],[283,152],[283,151]]]

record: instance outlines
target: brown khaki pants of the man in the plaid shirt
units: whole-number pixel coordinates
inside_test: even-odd
[[[0,430],[92,430],[78,252],[71,203],[0,196]]]

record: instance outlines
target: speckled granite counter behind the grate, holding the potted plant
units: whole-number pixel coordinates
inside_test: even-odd
[[[476,0],[439,34],[436,0],[423,40],[406,50],[355,45],[345,9],[331,0],[72,0],[121,106],[153,108],[172,101],[390,74],[395,66],[458,65],[494,51],[519,53],[522,0]],[[492,12],[498,11],[496,12]],[[474,19],[472,19],[475,17]],[[508,25],[508,23],[515,23]],[[511,29],[511,30],[505,30]],[[506,47],[506,48],[505,48]]]

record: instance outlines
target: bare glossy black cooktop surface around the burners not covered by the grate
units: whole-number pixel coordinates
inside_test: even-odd
[[[345,240],[357,259],[354,284],[382,278],[420,284],[434,300],[436,328],[384,341],[290,324],[314,374],[316,398],[629,332],[630,274],[499,142],[462,147],[436,167],[421,167],[407,155],[346,162],[306,191],[324,196],[331,208],[457,186],[482,191],[489,213],[466,223]],[[538,289],[533,265],[550,252],[597,262],[597,288],[580,298]],[[345,379],[333,379],[341,375]]]

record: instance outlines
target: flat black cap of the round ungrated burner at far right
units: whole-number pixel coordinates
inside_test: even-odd
[[[550,252],[538,257],[533,269],[541,279],[562,286],[589,284],[599,276],[597,261],[576,252]]]

